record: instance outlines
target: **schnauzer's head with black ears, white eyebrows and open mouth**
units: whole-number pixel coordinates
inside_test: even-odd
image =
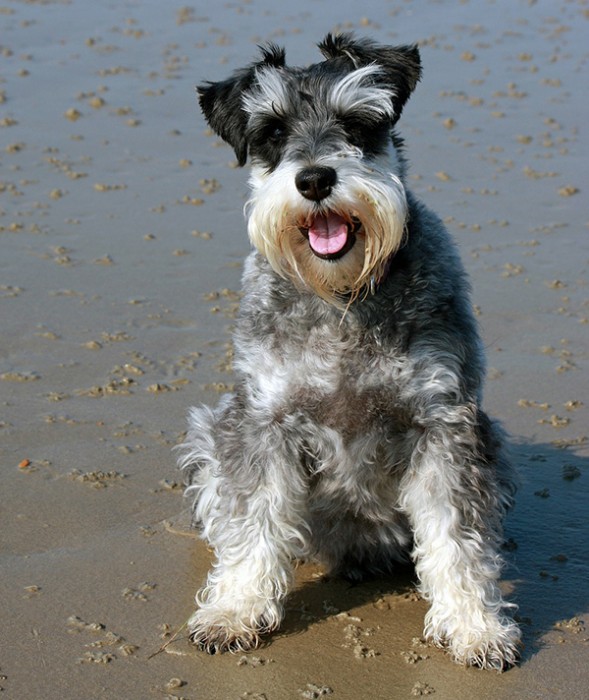
[[[415,46],[327,35],[319,49],[324,61],[294,68],[268,46],[198,93],[239,164],[251,160],[253,244],[279,274],[341,304],[380,280],[402,242],[393,127],[421,67]]]

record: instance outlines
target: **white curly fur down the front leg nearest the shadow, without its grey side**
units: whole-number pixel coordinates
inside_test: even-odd
[[[448,431],[426,432],[401,485],[420,590],[431,603],[424,635],[447,646],[459,663],[501,670],[516,660],[519,629],[504,613],[515,606],[503,600],[497,585],[502,567],[497,542],[465,528],[452,504],[463,465],[452,463],[453,449],[444,438]]]

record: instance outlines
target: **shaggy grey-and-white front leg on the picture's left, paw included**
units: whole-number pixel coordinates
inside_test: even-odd
[[[278,627],[308,539],[306,485],[287,431],[250,424],[237,400],[213,416],[192,415],[201,464],[195,517],[216,561],[189,621],[191,639],[210,653],[254,648]]]

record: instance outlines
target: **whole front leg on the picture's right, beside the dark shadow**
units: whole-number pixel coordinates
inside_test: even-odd
[[[414,532],[421,592],[431,604],[425,636],[459,663],[502,670],[517,660],[520,639],[505,613],[515,606],[498,587],[509,494],[483,456],[476,414],[473,406],[452,407],[424,426],[401,504]]]

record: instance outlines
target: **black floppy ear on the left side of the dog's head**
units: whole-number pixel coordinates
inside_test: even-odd
[[[233,147],[239,165],[247,161],[247,114],[243,110],[243,94],[256,80],[258,68],[285,65],[284,49],[269,44],[262,47],[262,59],[247,68],[235,71],[227,80],[199,85],[196,90],[200,108],[213,131]]]

